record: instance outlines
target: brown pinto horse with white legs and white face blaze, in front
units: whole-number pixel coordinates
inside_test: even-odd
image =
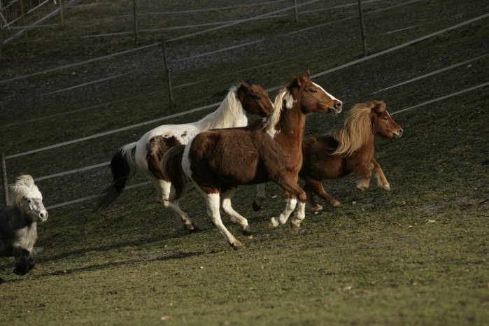
[[[234,222],[239,222],[243,234],[250,236],[248,221],[231,205],[238,185],[274,181],[295,196],[289,199],[288,209],[293,211],[299,199],[300,209],[292,224],[299,227],[304,219],[306,194],[297,180],[302,166],[301,144],[306,114],[339,113],[342,108],[341,101],[309,77],[308,71],[306,76],[298,74],[292,78],[276,97],[274,113],[266,120],[255,121],[248,127],[202,132],[187,146],[173,148],[163,157],[164,175],[175,187],[175,195],[170,200],[176,200],[182,194],[186,175],[204,194],[207,214],[213,225],[234,248],[243,247],[243,244],[222,224],[220,208]]]

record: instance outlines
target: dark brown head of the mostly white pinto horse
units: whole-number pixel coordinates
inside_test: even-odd
[[[268,92],[255,80],[241,82],[236,96],[246,112],[262,117],[267,117],[274,112],[274,104]]]

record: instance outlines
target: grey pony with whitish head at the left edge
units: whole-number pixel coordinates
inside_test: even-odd
[[[34,179],[27,174],[17,177],[10,187],[10,206],[0,208],[0,257],[15,257],[15,274],[24,275],[34,267],[37,223],[47,219]]]

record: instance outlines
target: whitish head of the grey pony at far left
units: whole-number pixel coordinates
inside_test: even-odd
[[[29,175],[19,176],[12,187],[13,204],[29,216],[32,222],[44,222],[48,219],[48,211],[44,208],[43,195],[34,185]]]

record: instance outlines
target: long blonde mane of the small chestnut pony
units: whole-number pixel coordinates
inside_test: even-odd
[[[374,135],[372,134],[370,113],[375,105],[374,102],[355,104],[348,111],[343,126],[329,133],[329,136],[332,136],[339,143],[338,148],[332,153],[333,155],[352,155],[353,152],[371,141]]]

